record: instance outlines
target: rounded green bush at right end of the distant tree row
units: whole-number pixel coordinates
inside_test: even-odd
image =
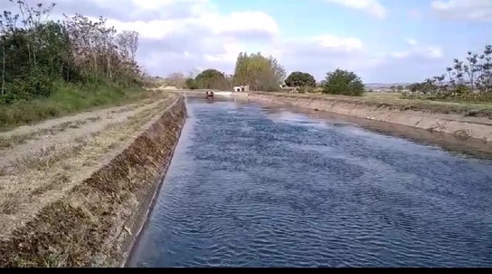
[[[364,83],[352,71],[337,70],[327,73],[323,83],[323,93],[362,96],[364,94]]]

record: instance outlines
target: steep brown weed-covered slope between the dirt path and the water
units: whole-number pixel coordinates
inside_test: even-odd
[[[121,266],[145,223],[186,120],[175,100],[116,157],[0,239],[0,266]]]

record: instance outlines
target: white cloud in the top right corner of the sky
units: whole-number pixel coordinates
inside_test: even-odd
[[[436,0],[431,8],[446,19],[492,22],[492,0]]]

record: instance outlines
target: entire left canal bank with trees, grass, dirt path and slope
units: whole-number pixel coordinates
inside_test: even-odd
[[[0,14],[0,266],[120,266],[186,119],[147,90],[138,33],[105,19]]]

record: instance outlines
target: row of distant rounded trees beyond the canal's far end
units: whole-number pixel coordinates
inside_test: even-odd
[[[195,77],[185,77],[183,73],[172,73],[163,80],[164,85],[188,89],[232,90],[237,85],[249,85],[250,90],[279,91],[282,86],[298,88],[299,92],[314,92],[319,88],[322,93],[355,95],[364,93],[364,83],[354,72],[337,69],[327,73],[327,77],[316,83],[309,73],[294,71],[286,77],[285,68],[272,56],[261,53],[240,53],[237,56],[233,75],[209,68]]]

